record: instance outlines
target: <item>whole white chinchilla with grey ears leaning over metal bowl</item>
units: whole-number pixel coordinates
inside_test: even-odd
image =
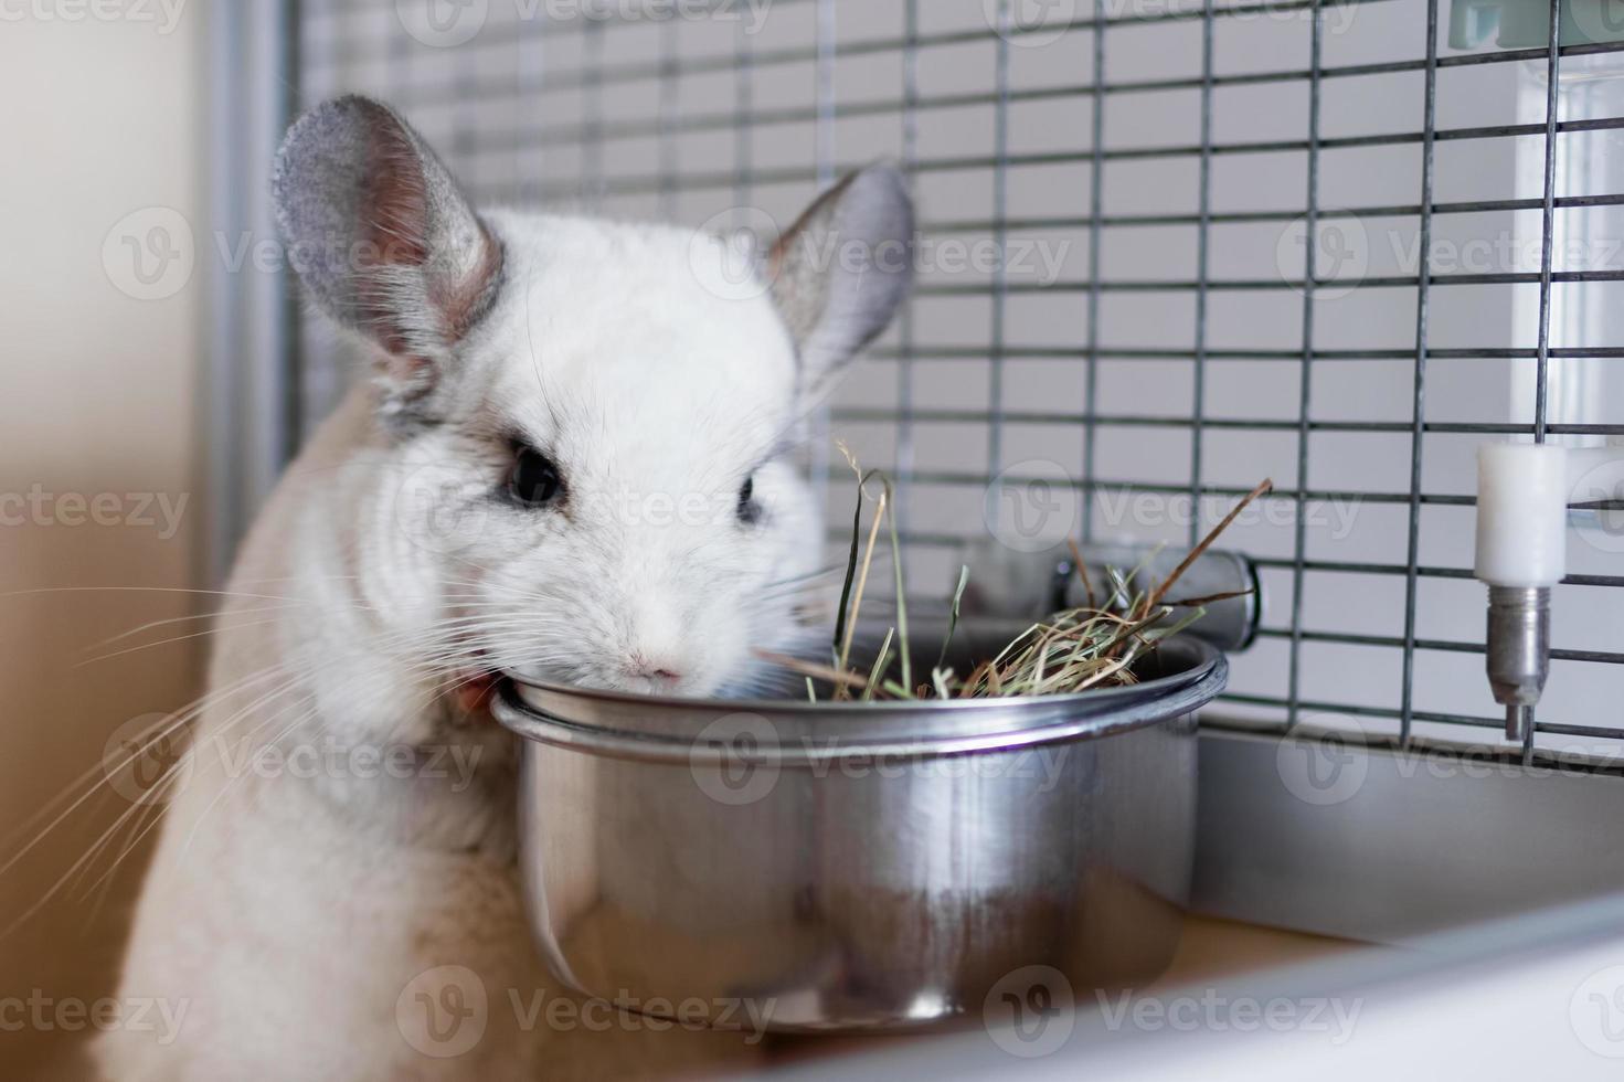
[[[248,536],[120,994],[112,1079],[716,1072],[750,1035],[555,1025],[518,895],[512,739],[468,689],[521,669],[758,689],[820,517],[799,418],[911,283],[875,166],[741,281],[659,226],[479,214],[390,107],[343,97],[274,177],[305,289],[370,344]],[[153,1017],[161,1017],[154,1012]],[[606,1032],[604,1032],[606,1028]]]

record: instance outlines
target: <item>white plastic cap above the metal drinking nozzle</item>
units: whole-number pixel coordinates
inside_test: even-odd
[[[1567,450],[1549,444],[1478,448],[1478,578],[1554,586],[1567,573]]]

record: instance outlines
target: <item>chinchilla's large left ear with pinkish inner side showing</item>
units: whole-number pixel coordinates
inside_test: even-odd
[[[271,192],[305,288],[380,346],[390,408],[412,409],[489,310],[502,244],[422,136],[369,97],[304,114]]]

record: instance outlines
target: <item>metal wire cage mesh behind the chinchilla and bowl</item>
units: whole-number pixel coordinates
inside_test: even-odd
[[[1276,530],[1231,538],[1262,569],[1268,606],[1260,645],[1236,658],[1226,713],[1267,726],[1311,715],[1353,720],[1402,739],[1499,728],[1481,674],[1481,590],[1468,567],[1473,486],[1462,447],[1624,434],[1619,424],[1548,416],[1553,364],[1616,367],[1624,356],[1590,327],[1553,341],[1553,304],[1564,291],[1624,278],[1616,263],[1566,266],[1554,244],[1572,216],[1603,216],[1583,219],[1579,232],[1618,229],[1608,208],[1624,205],[1611,192],[1562,187],[1562,146],[1613,138],[1624,117],[1559,115],[1561,65],[1621,49],[1559,47],[1561,0],[1549,0],[1543,47],[1449,52],[1440,0],[1078,0],[1060,23],[1056,5],[1046,21],[1021,21],[1012,0],[775,0],[762,8],[718,0],[708,18],[689,18],[698,5],[659,0],[598,8],[492,0],[453,8],[479,13],[466,41],[453,28],[427,42],[421,26],[406,32],[409,6],[305,0],[300,89],[307,101],[346,89],[390,97],[482,200],[689,224],[718,213],[745,223],[750,208],[770,208],[788,221],[841,169],[885,154],[919,190],[922,237],[991,242],[994,257],[978,271],[922,275],[898,327],[825,416],[869,465],[895,474],[914,591],[939,596],[927,588],[932,578],[945,583],[966,543],[987,533],[987,486],[1023,479],[1023,465],[1059,466],[1086,538],[1125,526],[1138,538],[1189,543],[1223,510],[1202,502],[1242,496],[1263,473],[1250,470],[1255,461],[1278,483],[1270,504],[1289,515],[1270,520]],[[752,26],[757,10],[765,18]],[[1246,36],[1262,45],[1246,47]],[[1389,42],[1416,42],[1419,52]],[[1184,67],[1163,54],[1184,55]],[[1507,86],[1531,70],[1543,71],[1543,112],[1509,119],[1520,99]],[[1023,78],[1028,71],[1036,78]],[[1450,94],[1450,80],[1476,81]],[[1338,94],[1328,128],[1327,97],[1341,86],[1353,96]],[[1463,107],[1479,89],[1492,91],[1488,101]],[[1348,102],[1361,97],[1387,104],[1350,120]],[[1440,122],[1440,101],[1462,122]],[[1023,110],[1038,110],[1039,123]],[[1276,115],[1298,130],[1268,132]],[[1473,162],[1481,169],[1483,148],[1507,145],[1518,149],[1494,151],[1491,166],[1514,172],[1533,162],[1531,190],[1463,180]],[[1457,148],[1483,154],[1460,158]],[[1294,174],[1298,195],[1257,174],[1255,187],[1273,195],[1237,198],[1228,169],[1237,161]],[[1408,171],[1416,174],[1408,184],[1380,182]],[[1179,179],[1163,179],[1171,175]],[[1371,190],[1395,198],[1371,198],[1364,187],[1363,198],[1348,198],[1348,177],[1376,180]],[[1450,223],[1470,223],[1470,237],[1486,231],[1483,223],[1528,214],[1536,216],[1531,266],[1434,266],[1434,240]],[[1385,236],[1415,244],[1415,266],[1366,268],[1345,292],[1346,279],[1319,265],[1322,253],[1345,255],[1325,239],[1346,240],[1343,231],[1354,229],[1363,237],[1379,223],[1389,223]],[[1301,245],[1301,265],[1288,266],[1280,252],[1291,229],[1312,240]],[[1231,258],[1255,249],[1259,236],[1263,244],[1278,237],[1263,273]],[[1150,258],[1124,237],[1151,237]],[[1047,279],[1018,276],[1012,245],[1033,239],[1080,245],[1085,258],[1067,253],[1062,273]],[[1458,333],[1473,312],[1528,307],[1530,291],[1531,341],[1510,328]],[[1389,305],[1402,310],[1397,320],[1387,309],[1377,315],[1406,327],[1403,336],[1361,338],[1330,307],[1351,297],[1358,309],[1371,296],[1397,299]],[[1254,309],[1254,297],[1268,304]],[[1259,333],[1273,330],[1268,320],[1289,323],[1280,301],[1296,307],[1298,327]],[[1187,335],[1112,333],[1145,320]],[[1237,322],[1247,333],[1236,333]],[[1455,333],[1440,335],[1440,323]],[[315,418],[338,393],[343,367],[318,338],[300,357]],[[1239,375],[1226,377],[1226,366]],[[1348,393],[1358,387],[1348,372],[1361,367],[1385,388],[1372,411],[1387,416],[1332,416],[1345,393],[1361,396]],[[1462,393],[1476,367],[1523,387],[1527,401],[1510,392],[1504,401]],[[1528,367],[1531,380],[1517,383]],[[1179,369],[1186,375],[1174,375]],[[1237,387],[1268,409],[1236,408]],[[1145,406],[1156,400],[1171,405]],[[1134,453],[1122,453],[1124,434]],[[1380,437],[1398,450],[1359,450],[1367,447],[1359,440]],[[1067,440],[1075,455],[1056,450]],[[970,455],[978,444],[984,450]],[[830,440],[812,447],[817,478],[843,479]],[[1328,460],[1338,468],[1315,483]],[[1054,479],[1051,470],[1039,473],[1034,479]],[[828,494],[843,496],[833,486]],[[1164,510],[1187,497],[1192,513],[1124,523],[1129,494],[1160,499]],[[1338,502],[1379,528],[1320,538],[1314,510]],[[1614,593],[1624,575],[1609,552],[1577,554],[1588,559],[1575,560],[1557,590],[1564,648],[1553,656],[1549,708],[1530,734],[1543,747],[1580,738],[1595,749],[1596,738],[1624,738],[1606,710],[1624,674]],[[1372,598],[1389,604],[1366,612]]]

